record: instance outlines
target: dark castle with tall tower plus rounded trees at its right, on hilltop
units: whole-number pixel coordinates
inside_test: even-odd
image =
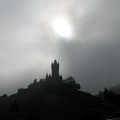
[[[59,74],[60,64],[57,60],[54,60],[51,63],[51,74],[46,74],[44,79],[37,81],[35,79],[33,83],[28,85],[28,88],[18,89],[18,93],[64,93],[65,91],[76,91],[80,89],[80,85],[76,84],[73,77],[69,77],[66,80],[63,80],[62,75]]]

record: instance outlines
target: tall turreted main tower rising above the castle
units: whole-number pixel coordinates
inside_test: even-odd
[[[59,63],[56,60],[51,64],[51,69],[52,77],[59,77]]]

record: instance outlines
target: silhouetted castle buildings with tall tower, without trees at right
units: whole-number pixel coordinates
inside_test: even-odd
[[[35,79],[33,83],[30,83],[30,85],[28,85],[28,88],[18,89],[18,93],[32,91],[34,89],[41,89],[43,86],[51,88],[58,87],[63,83],[62,75],[59,75],[59,68],[60,68],[59,62],[57,62],[57,60],[54,60],[54,62],[51,64],[51,74],[48,75],[47,73],[46,78],[40,79],[40,81],[37,81],[37,79]]]

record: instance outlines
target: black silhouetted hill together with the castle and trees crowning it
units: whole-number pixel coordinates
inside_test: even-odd
[[[105,120],[119,109],[117,104],[80,91],[73,77],[59,75],[59,63],[51,64],[52,74],[0,97],[1,120]]]

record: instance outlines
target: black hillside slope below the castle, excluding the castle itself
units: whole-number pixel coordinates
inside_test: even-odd
[[[17,101],[17,107],[12,106]],[[113,112],[117,107],[113,103],[101,101],[100,99],[82,91],[75,94],[41,94],[37,92],[32,94],[17,93],[10,97],[0,100],[0,118],[13,119],[14,117],[21,120],[34,116],[35,120],[49,119],[71,119],[77,118],[83,120],[89,114],[92,119],[103,120],[106,113]],[[33,119],[33,120],[34,120]],[[84,120],[87,120],[84,119]]]

